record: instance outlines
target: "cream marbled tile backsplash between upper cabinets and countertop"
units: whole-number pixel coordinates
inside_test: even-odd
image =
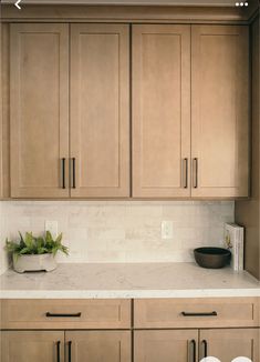
[[[233,218],[232,201],[3,201],[0,247],[6,237],[40,234],[45,220],[55,220],[70,248],[60,262],[189,262],[194,248],[219,245]],[[163,220],[173,221],[170,240],[160,237]]]

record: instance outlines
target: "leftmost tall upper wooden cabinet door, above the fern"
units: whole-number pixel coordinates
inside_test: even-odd
[[[69,197],[69,28],[12,24],[10,47],[11,195]]]

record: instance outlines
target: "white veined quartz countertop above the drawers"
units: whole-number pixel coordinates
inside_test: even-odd
[[[0,276],[1,299],[205,296],[260,296],[260,283],[247,272],[195,263],[62,263],[49,273]]]

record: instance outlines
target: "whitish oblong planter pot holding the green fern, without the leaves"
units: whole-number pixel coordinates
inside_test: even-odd
[[[20,255],[12,258],[13,269],[18,273],[24,273],[27,271],[52,271],[56,269],[56,261],[53,254],[42,255]]]

